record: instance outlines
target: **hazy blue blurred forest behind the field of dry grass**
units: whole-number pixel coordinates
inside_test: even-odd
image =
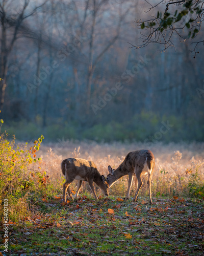
[[[144,1],[0,3],[2,131],[19,140],[204,140],[203,46],[196,56],[177,38],[164,52],[131,48],[136,19],[149,15]]]

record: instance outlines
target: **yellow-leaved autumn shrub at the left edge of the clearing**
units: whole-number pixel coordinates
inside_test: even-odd
[[[40,190],[42,175],[34,170],[34,165],[40,160],[36,153],[43,138],[41,136],[29,146],[28,143],[16,145],[15,137],[9,141],[6,133],[0,136],[0,200],[2,203],[4,199],[8,200],[12,220],[27,214],[28,196],[36,188]]]

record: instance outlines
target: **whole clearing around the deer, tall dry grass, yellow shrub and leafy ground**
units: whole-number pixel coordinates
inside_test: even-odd
[[[40,147],[41,141],[18,147],[0,140],[0,256],[204,255],[204,143],[158,142],[149,148],[156,158],[152,205],[146,177],[138,203],[122,200],[127,176],[110,188],[108,198],[96,187],[96,202],[85,182],[81,198],[63,205],[63,159],[93,160],[106,176],[109,164],[116,168],[130,151],[148,147],[71,141]],[[76,186],[74,181],[71,189]]]

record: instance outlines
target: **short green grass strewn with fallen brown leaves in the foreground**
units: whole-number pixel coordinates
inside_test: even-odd
[[[203,255],[203,200],[153,198],[149,205],[146,197],[133,203],[81,194],[78,202],[61,202],[61,196],[40,200],[35,215],[10,222],[2,254]]]

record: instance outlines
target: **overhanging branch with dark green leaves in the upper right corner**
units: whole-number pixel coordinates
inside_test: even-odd
[[[163,3],[163,1],[159,4],[161,3]],[[166,5],[164,13],[158,11],[157,15],[152,16],[149,20],[138,20],[138,26],[146,33],[141,33],[142,44],[136,46],[131,44],[132,47],[139,49],[150,43],[157,43],[163,45],[164,51],[169,47],[174,47],[172,38],[174,38],[173,35],[175,35],[179,36],[180,40],[183,42],[187,39],[193,40],[193,43],[196,44],[194,48],[195,51],[197,45],[200,44],[200,42],[204,42],[204,40],[194,40],[200,32],[204,18],[203,4],[203,0],[172,2]],[[170,5],[182,5],[182,8],[176,7],[174,11],[173,8],[170,8]],[[151,10],[156,6],[151,6],[149,9]]]

